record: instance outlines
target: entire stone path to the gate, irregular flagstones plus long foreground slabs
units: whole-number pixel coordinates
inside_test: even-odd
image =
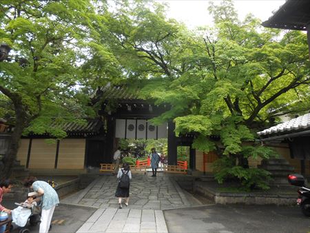
[[[201,204],[171,176],[133,174],[130,204],[118,209],[116,185],[116,176],[99,176],[84,190],[61,200],[98,208],[78,232],[168,232],[163,210]]]

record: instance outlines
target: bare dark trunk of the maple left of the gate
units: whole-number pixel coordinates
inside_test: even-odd
[[[21,135],[25,129],[26,113],[23,110],[23,105],[21,101],[14,101],[15,117],[16,122],[14,126],[14,131],[12,132],[10,146],[8,152],[4,156],[4,170],[0,174],[0,180],[8,179],[12,174],[12,169],[14,166],[14,161],[17,158],[17,151],[19,148],[19,141],[21,140]]]

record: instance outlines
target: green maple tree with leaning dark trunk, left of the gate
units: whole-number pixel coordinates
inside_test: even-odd
[[[12,172],[22,134],[61,139],[63,123],[92,114],[80,89],[81,65],[91,52],[103,51],[96,46],[103,16],[95,3],[104,10],[98,1],[1,1],[0,42],[12,50],[11,60],[0,63],[0,95],[14,111],[14,132],[0,179]]]

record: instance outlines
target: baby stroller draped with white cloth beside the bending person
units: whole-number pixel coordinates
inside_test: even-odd
[[[12,211],[14,226],[20,227],[19,233],[30,233],[29,225],[35,226],[40,223],[41,209],[37,206],[25,206],[23,203],[15,204],[19,207]]]

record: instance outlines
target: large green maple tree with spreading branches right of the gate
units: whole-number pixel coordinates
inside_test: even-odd
[[[251,15],[240,21],[231,1],[211,4],[209,13],[213,28],[189,31],[166,19],[156,3],[135,1],[117,11],[107,30],[124,67],[123,82],[142,86],[141,98],[171,106],[154,123],[172,120],[176,135],[195,135],[194,148],[216,150],[220,183],[232,178],[246,188],[268,188],[269,173],[249,168],[247,159],[275,156],[255,144],[258,130],[280,114],[309,109],[306,35],[282,37]]]

